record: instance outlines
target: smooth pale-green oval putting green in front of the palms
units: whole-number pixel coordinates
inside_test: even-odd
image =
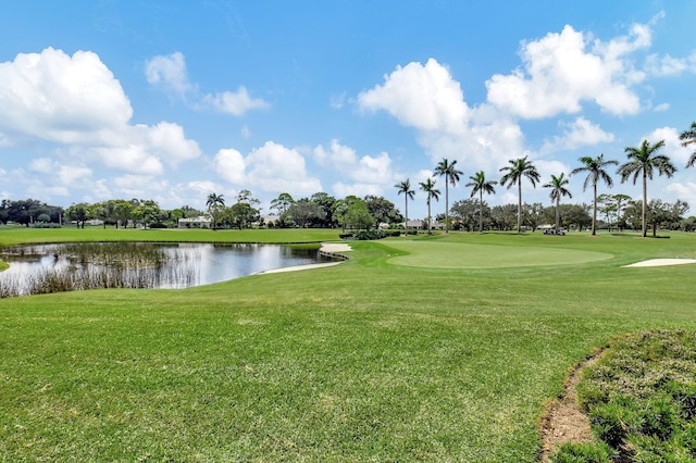
[[[613,258],[607,252],[539,246],[496,246],[437,241],[399,241],[389,247],[400,255],[394,265],[432,268],[500,268],[539,265],[571,265]],[[402,254],[401,254],[402,253]]]

